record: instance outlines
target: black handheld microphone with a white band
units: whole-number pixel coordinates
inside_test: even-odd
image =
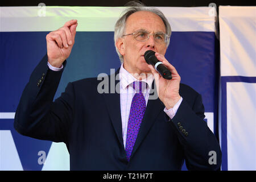
[[[144,53],[144,59],[146,60],[147,64],[151,64],[153,67],[155,67],[156,71],[160,73],[160,75],[163,78],[166,78],[167,80],[171,80],[172,78],[172,73],[170,72],[169,69],[166,68],[166,66],[159,61],[156,56],[155,52],[148,50]]]

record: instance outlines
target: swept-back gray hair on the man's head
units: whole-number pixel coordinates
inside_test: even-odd
[[[125,26],[126,26],[126,20],[127,18],[138,11],[150,11],[152,13],[155,13],[156,15],[160,16],[160,18],[163,20],[164,26],[166,27],[166,34],[170,37],[171,36],[171,26],[164,14],[156,9],[155,7],[147,7],[142,2],[137,1],[131,1],[126,4],[128,6],[125,10],[122,12],[122,16],[117,20],[117,23],[115,23],[115,32],[114,32],[114,42],[116,43],[119,38],[122,38],[123,34],[125,33]],[[170,39],[167,40],[166,47],[169,46]],[[119,56],[119,59],[121,63],[123,63],[123,56],[118,51],[117,46],[115,45],[115,50],[117,51],[117,54]]]

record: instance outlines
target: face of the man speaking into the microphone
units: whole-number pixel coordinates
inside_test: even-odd
[[[138,30],[146,30],[150,34],[155,32],[166,32],[163,20],[149,11],[138,11],[131,14],[126,20],[125,34],[131,34]],[[139,42],[133,35],[121,38],[121,50],[123,55],[123,67],[130,73],[151,73],[144,59],[144,52],[152,50],[164,55],[166,53],[165,43],[156,43],[154,36],[145,42]]]

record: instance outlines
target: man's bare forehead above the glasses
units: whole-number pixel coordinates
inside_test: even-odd
[[[166,32],[166,27],[160,16],[150,11],[138,11],[127,18],[126,32],[139,29],[154,32]]]

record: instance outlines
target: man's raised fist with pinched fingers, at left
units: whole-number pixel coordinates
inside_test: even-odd
[[[49,64],[60,68],[71,53],[75,43],[77,20],[72,19],[58,30],[49,32],[46,36],[47,56]]]

